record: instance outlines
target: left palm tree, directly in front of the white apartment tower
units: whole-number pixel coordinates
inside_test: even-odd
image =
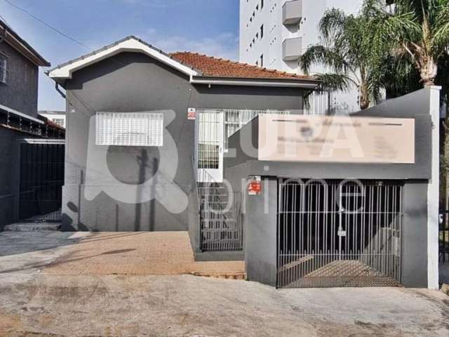
[[[328,72],[316,76],[327,90],[358,88],[361,109],[381,98],[382,58],[387,51],[383,40],[373,48],[376,31],[365,13],[369,12],[347,15],[335,8],[326,11],[319,22],[323,43],[309,47],[299,60],[305,74],[309,74],[314,65],[326,67]]]

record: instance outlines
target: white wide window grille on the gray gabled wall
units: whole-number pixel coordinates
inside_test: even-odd
[[[96,145],[162,146],[160,112],[97,112]]]

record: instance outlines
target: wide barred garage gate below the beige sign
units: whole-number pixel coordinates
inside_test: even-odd
[[[279,181],[281,288],[398,286],[402,183]]]

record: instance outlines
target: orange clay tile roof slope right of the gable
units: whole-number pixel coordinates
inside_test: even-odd
[[[199,70],[205,77],[229,77],[244,79],[304,79],[316,80],[314,77],[306,75],[290,74],[279,70],[269,70],[267,68],[239,63],[224,58],[214,58],[213,56],[191,53],[187,51],[171,53],[175,60],[184,65]]]

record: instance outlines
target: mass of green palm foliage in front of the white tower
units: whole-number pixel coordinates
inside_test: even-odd
[[[322,43],[300,58],[308,74],[314,65],[326,67],[317,76],[330,90],[358,88],[361,108],[387,97],[404,95],[423,85],[443,86],[449,93],[449,0],[396,0],[392,10],[384,0],[365,0],[357,15],[326,11],[319,23]]]

